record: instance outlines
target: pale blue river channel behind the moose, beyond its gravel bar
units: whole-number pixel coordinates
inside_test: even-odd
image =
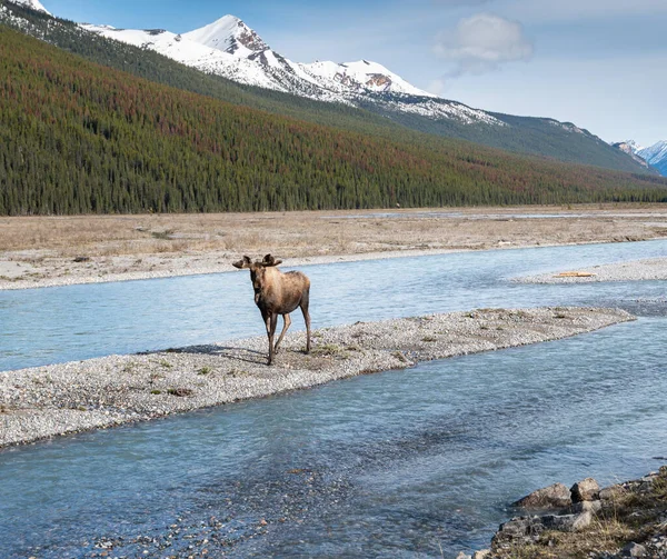
[[[508,278],[667,256],[667,241],[462,252],[302,267],[313,328],[481,307],[633,302],[638,283],[526,286]],[[659,298],[663,283],[643,285]],[[637,296],[639,291],[637,291]],[[261,336],[247,271],[0,291],[0,371]],[[302,329],[300,317],[292,328]]]

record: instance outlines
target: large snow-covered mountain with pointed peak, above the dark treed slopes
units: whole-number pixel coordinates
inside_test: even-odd
[[[485,111],[446,101],[416,88],[377,62],[292,62],[272,50],[256,31],[235,16],[225,16],[213,23],[181,34],[162,29],[116,29],[87,23],[81,27],[249,86],[355,107],[372,100],[385,110],[454,119],[465,124],[480,122],[507,126]]]

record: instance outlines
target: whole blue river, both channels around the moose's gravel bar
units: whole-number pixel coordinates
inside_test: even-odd
[[[532,489],[587,476],[613,482],[667,461],[664,282],[524,286],[507,278],[666,253],[667,242],[654,241],[310,267],[318,327],[563,303],[620,305],[640,318],[567,340],[6,449],[0,557],[206,550],[439,558],[486,547],[511,515],[508,503]],[[4,308],[33,320],[40,300],[53,329],[36,328],[30,338],[16,317],[10,327],[3,321],[3,339],[16,342],[6,369],[27,365],[32,351],[42,360],[81,359],[261,333],[257,310],[242,301],[251,302],[246,273],[4,295]],[[58,320],[57,301],[66,316],[104,310],[68,335],[62,323],[78,322]],[[113,318],[130,307],[131,319]],[[80,320],[88,316],[81,312]],[[243,312],[251,316],[241,321]],[[216,322],[221,315],[228,318]],[[135,316],[146,317],[143,327]]]

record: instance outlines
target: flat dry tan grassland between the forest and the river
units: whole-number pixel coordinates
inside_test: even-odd
[[[0,289],[225,271],[267,252],[302,263],[664,237],[659,204],[0,218]]]

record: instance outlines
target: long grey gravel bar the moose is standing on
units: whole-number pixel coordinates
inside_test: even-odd
[[[283,340],[266,336],[0,372],[0,447],[261,398],[419,361],[556,340],[634,320],[599,308],[481,309],[357,322]]]

